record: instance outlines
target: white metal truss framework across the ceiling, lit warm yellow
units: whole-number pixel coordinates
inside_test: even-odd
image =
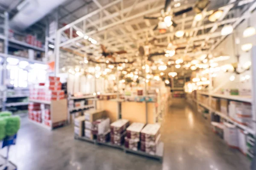
[[[237,6],[238,2],[237,0],[230,0],[229,3],[221,6],[219,9],[224,11],[223,15],[215,23],[211,23],[205,19],[213,12],[213,10],[207,11],[207,8],[205,8],[202,12],[203,20],[196,21],[195,14],[183,14],[181,17],[174,17],[174,20],[177,22],[175,29],[170,27],[170,32],[159,34],[157,31],[152,30],[157,22],[153,24],[149,20],[144,20],[143,16],[160,16],[160,10],[164,8],[164,1],[113,0],[103,6],[99,0],[93,0],[91,5],[95,5],[97,7],[96,10],[57,31],[55,41],[55,48],[57,48],[56,58],[58,58],[59,55],[59,48],[70,48],[70,46],[76,46],[75,42],[84,44],[84,42],[88,41],[84,40],[83,36],[79,37],[73,34],[70,34],[65,40],[61,41],[61,34],[67,30],[72,33],[73,29],[92,37],[98,44],[103,44],[110,50],[124,49],[133,54],[137,52],[137,47],[140,43],[145,43],[148,40],[146,36],[151,39],[154,37],[158,40],[166,41],[160,42],[161,44],[166,43],[166,45],[167,37],[170,37],[171,42],[177,44],[178,47],[180,44],[180,47],[184,48],[181,49],[178,54],[190,53],[190,47],[200,40],[205,40],[206,43],[209,41],[212,46],[216,46],[224,37],[221,36],[220,26],[235,24],[237,20],[249,17],[244,15],[242,15],[243,17],[241,17],[241,15],[226,17],[233,7]],[[249,3],[249,1],[247,3]],[[189,3],[184,3],[182,6],[173,8],[172,10],[173,12],[180,11],[184,8],[192,7],[194,4],[194,0],[193,2],[189,1]],[[255,2],[253,2],[253,5],[254,4]],[[182,38],[175,37],[175,31],[181,28],[183,28],[186,34]],[[186,43],[186,45],[184,45],[184,43]],[[77,46],[77,48],[72,50],[83,53],[83,51],[87,49],[87,46]],[[212,46],[208,47],[208,49],[212,49]],[[156,48],[155,50],[160,51],[163,50],[163,48]]]

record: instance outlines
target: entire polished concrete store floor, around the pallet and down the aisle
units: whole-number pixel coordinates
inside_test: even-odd
[[[10,160],[18,170],[249,170],[250,161],[212,133],[209,122],[189,106],[174,104],[162,131],[163,164],[74,140],[72,126],[50,132],[23,118]]]

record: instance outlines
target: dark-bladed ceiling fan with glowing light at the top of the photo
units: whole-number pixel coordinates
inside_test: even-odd
[[[171,10],[171,2],[172,2],[172,0],[166,0],[164,9],[162,9],[160,12],[160,14],[161,14],[160,17],[144,16],[144,19],[159,20],[158,24],[153,28],[153,30],[156,30],[158,28],[160,33],[166,33],[167,27],[170,27],[170,26],[176,27],[177,26],[177,23],[175,23],[175,21],[173,20],[173,17],[176,17],[178,15],[192,11],[193,9],[196,13],[200,13],[209,4],[209,0],[197,0],[194,7],[189,7],[189,8],[186,8],[181,11],[177,11],[177,12],[173,13]]]

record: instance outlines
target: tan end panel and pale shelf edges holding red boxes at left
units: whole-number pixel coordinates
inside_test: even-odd
[[[47,125],[44,125],[43,123],[35,122],[32,120],[30,120],[30,122],[33,122],[36,125],[40,125],[40,127],[44,127],[47,130],[52,130],[55,127],[59,127],[67,122],[67,99],[52,100],[52,101],[41,101],[41,100],[29,99],[29,102],[50,105],[50,116],[52,121],[50,126],[47,126]]]

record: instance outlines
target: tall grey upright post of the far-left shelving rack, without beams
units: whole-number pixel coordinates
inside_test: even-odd
[[[4,12],[4,35],[5,35],[5,39],[4,39],[4,54],[6,55],[6,57],[4,57],[3,60],[3,85],[6,86],[6,78],[7,78],[7,54],[8,54],[8,46],[9,46],[9,14],[8,12]],[[7,89],[5,89],[4,93],[3,93],[3,104],[2,104],[2,110],[5,111],[6,110],[6,93],[7,93]]]

